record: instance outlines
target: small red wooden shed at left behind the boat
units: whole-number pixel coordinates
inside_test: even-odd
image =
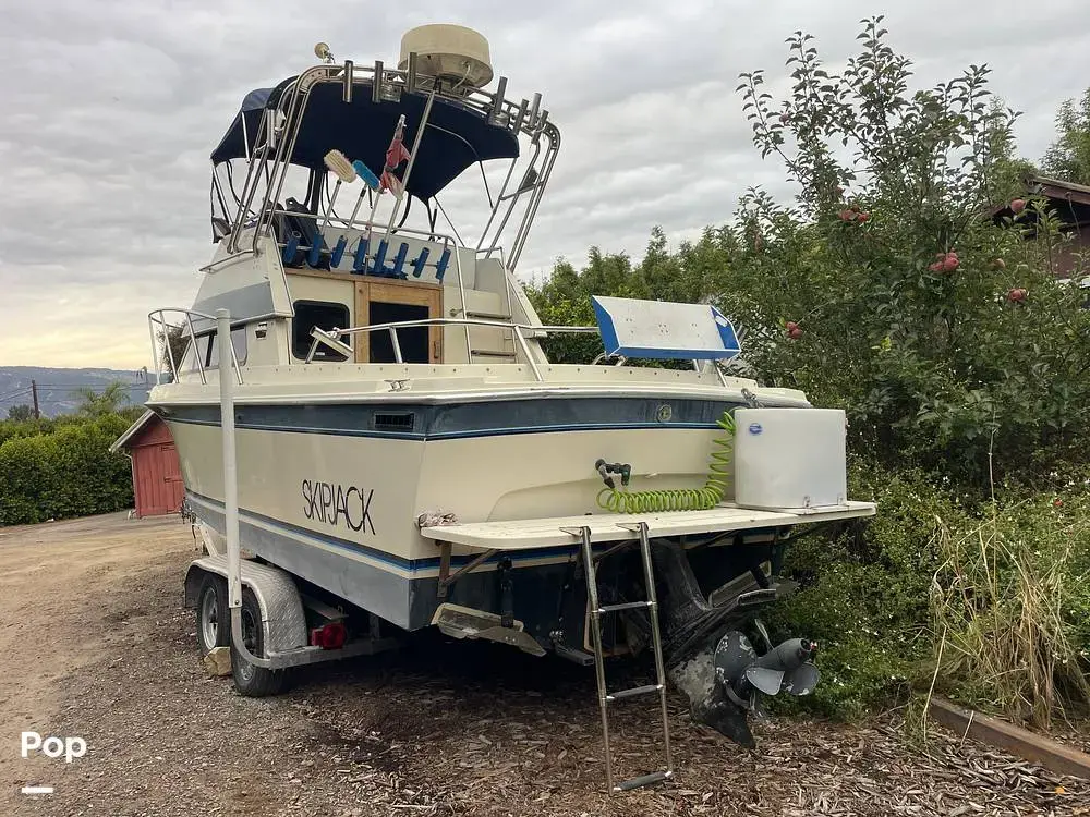
[[[121,435],[110,451],[124,451],[133,465],[136,516],[178,513],[185,497],[178,451],[167,424],[153,412],[144,412]]]

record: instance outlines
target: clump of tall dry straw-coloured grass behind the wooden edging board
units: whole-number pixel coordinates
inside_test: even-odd
[[[943,687],[1041,728],[1090,708],[1088,504],[993,500],[983,521],[937,520],[931,611]]]

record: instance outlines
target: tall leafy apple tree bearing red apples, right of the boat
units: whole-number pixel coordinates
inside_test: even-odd
[[[1090,313],[1054,280],[1063,236],[1027,240],[1043,203],[1018,198],[1016,114],[989,70],[913,90],[881,22],[863,21],[839,72],[797,32],[785,82],[741,75],[754,144],[797,195],[743,196],[722,305],[750,328],[756,370],[845,407],[860,450],[970,481],[992,448],[1001,468],[1047,465],[1090,419]]]

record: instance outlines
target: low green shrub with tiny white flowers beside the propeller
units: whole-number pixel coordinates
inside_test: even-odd
[[[873,499],[881,512],[835,536],[791,545],[785,575],[799,589],[770,621],[783,637],[821,645],[822,682],[797,705],[841,718],[893,704],[925,680],[928,592],[938,565],[925,532],[962,513],[919,472],[856,461],[849,484],[853,497]]]

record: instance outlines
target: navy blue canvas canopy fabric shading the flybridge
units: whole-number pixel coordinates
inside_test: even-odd
[[[230,129],[211,153],[214,163],[250,155],[263,112],[278,107],[294,80],[246,95]],[[398,101],[376,102],[370,83],[355,83],[351,102],[344,102],[341,95],[340,82],[316,83],[306,92],[303,121],[289,161],[325,170],[324,157],[336,148],[350,161],[360,159],[379,175],[398,117],[405,117],[404,145],[411,149],[427,97],[402,93]],[[411,195],[427,200],[471,164],[518,155],[519,142],[510,130],[489,123],[483,114],[455,100],[436,97],[407,188]],[[398,175],[403,175],[403,168]]]

